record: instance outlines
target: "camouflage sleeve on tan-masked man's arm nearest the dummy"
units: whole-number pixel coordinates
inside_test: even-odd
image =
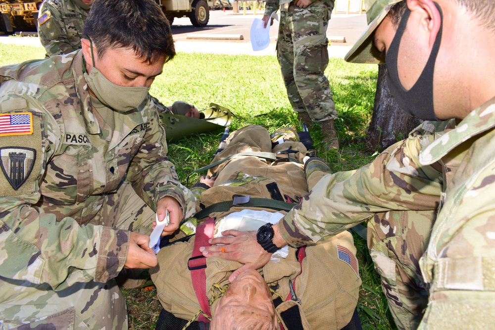
[[[165,196],[175,198],[187,219],[196,212],[195,197],[191,190],[179,182],[174,164],[166,156],[165,130],[159,124],[157,110],[152,102],[147,106],[150,116],[144,142],[132,159],[127,180],[132,183],[136,193],[154,210],[160,198]]]

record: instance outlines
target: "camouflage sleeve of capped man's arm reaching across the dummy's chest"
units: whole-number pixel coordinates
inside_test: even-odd
[[[289,245],[336,235],[388,210],[436,210],[443,186],[439,163],[420,166],[418,153],[437,134],[413,131],[372,163],[324,177],[281,222]]]

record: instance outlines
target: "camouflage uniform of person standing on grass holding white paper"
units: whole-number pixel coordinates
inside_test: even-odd
[[[316,0],[299,8],[290,0],[267,0],[264,15],[280,9],[277,56],[289,101],[296,112],[317,120],[336,119],[328,65],[327,27],[334,0]]]

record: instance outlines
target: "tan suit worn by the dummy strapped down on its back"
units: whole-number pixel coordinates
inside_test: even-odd
[[[260,126],[247,126],[237,130],[229,137],[228,142],[227,148],[213,162],[241,152],[278,152],[290,147],[293,151],[298,151],[290,154],[291,157],[302,160],[307,152],[302,143],[295,141],[285,141],[272,149],[270,135]],[[287,154],[281,154],[281,158],[284,155]],[[262,158],[243,156],[230,159],[213,169],[218,177],[212,188],[196,184],[191,190],[197,196],[198,210],[199,206],[207,207],[218,202],[231,201],[234,195],[294,201],[306,194],[308,186],[311,187],[329,171],[322,160],[316,159],[313,164],[316,165],[306,166],[304,171],[302,163],[282,161],[272,164]],[[269,208],[248,208],[275,212]],[[244,209],[246,207],[233,206],[228,211],[211,213],[210,216],[217,219],[218,225],[219,222],[227,221],[224,220],[226,215]],[[191,272],[187,267],[193,246],[194,238],[167,246],[157,254],[159,266],[150,270],[163,307],[186,320],[193,319],[200,309]],[[339,249],[347,251],[344,256],[349,258],[349,263],[339,259]],[[343,232],[323,244],[308,246],[300,275],[301,266],[296,259],[296,249],[292,247],[287,259],[278,263],[269,262],[262,268],[262,272],[267,283],[278,287],[276,291],[283,300],[290,293],[289,279],[295,281],[296,294],[301,299],[300,310],[305,330],[342,329],[352,317],[361,284],[355,252],[352,235]],[[228,284],[229,275],[240,264],[221,258],[207,258],[206,263],[206,291],[208,298],[212,300],[211,312],[214,316],[219,302],[214,296],[218,292],[209,289],[213,284],[220,287]],[[160,269],[161,265],[167,266]],[[277,307],[277,314],[280,316],[282,311],[292,306],[297,306],[297,302],[289,299]]]

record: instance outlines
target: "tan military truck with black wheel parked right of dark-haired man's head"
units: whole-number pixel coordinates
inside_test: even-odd
[[[167,16],[170,25],[174,18],[189,17],[196,27],[208,24],[210,18],[209,9],[213,6],[213,0],[155,0]]]

